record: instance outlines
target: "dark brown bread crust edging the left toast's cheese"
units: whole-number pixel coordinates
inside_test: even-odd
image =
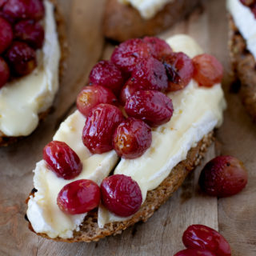
[[[60,10],[58,9],[57,2],[55,0],[49,0],[49,1],[54,4],[54,16],[55,16],[55,22],[57,25],[57,29],[58,29],[58,41],[59,41],[60,48],[61,48],[61,58],[60,58],[60,62],[59,62],[59,77],[61,77],[65,71],[65,66],[66,66],[65,60],[66,60],[66,56],[68,54],[68,47],[67,47],[67,43],[66,43],[65,24],[64,24],[64,19],[62,18],[63,16],[62,16]],[[42,122],[46,118],[46,116],[50,113],[50,109],[51,108],[38,114],[38,118],[39,118],[38,123]],[[0,130],[0,146],[9,146],[10,144],[12,144],[14,142],[18,142],[18,140],[20,140],[22,138],[24,138],[24,136],[18,136],[18,137],[7,136]]]

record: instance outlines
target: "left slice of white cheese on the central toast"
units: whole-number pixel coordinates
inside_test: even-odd
[[[34,187],[38,190],[34,198],[30,196],[27,217],[37,233],[47,234],[50,238],[72,238],[73,230],[79,225],[86,214],[69,215],[59,210],[57,205],[58,192],[62,187],[75,180],[86,178],[101,184],[102,179],[110,174],[110,170],[118,162],[114,150],[105,154],[90,154],[82,144],[82,129],[85,118],[77,110],[71,114],[54,135],[54,140],[66,142],[82,161],[82,173],[72,180],[58,178],[47,169],[42,160],[34,170]]]

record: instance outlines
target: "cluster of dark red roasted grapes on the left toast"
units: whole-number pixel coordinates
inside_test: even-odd
[[[0,88],[37,66],[36,50],[44,41],[44,15],[41,0],[0,1]]]

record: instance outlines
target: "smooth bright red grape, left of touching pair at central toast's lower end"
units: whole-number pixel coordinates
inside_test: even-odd
[[[99,186],[88,179],[79,179],[63,186],[57,204],[66,214],[84,214],[98,207],[101,199]]]

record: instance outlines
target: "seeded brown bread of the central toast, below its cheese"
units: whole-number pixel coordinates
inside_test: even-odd
[[[59,242],[92,242],[98,241],[100,238],[105,238],[111,234],[120,234],[122,230],[126,230],[127,227],[134,225],[136,222],[146,222],[148,218],[154,214],[155,210],[166,202],[166,200],[178,190],[178,187],[182,185],[182,182],[189,174],[191,170],[194,170],[196,166],[201,162],[206,150],[210,144],[214,141],[214,132],[207,134],[198,145],[191,148],[186,156],[186,160],[179,162],[177,166],[171,170],[169,176],[163,180],[163,182],[155,189],[148,191],[146,195],[146,201],[142,207],[134,216],[124,222],[113,222],[106,224],[104,228],[98,227],[98,213],[97,211],[91,211],[86,215],[86,218],[82,222],[81,229],[74,231],[74,238],[54,238]],[[32,190],[31,195],[34,194]],[[28,202],[29,198],[27,198]],[[30,230],[34,231],[29,223]],[[38,234],[44,238],[49,238],[46,234]]]

